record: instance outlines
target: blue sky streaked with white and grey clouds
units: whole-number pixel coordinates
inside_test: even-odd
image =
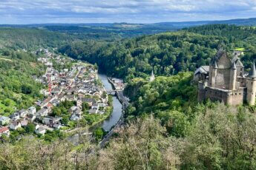
[[[0,24],[256,18],[256,0],[0,0]]]

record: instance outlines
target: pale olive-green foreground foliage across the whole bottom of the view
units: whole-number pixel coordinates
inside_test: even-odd
[[[0,169],[255,169],[256,118],[246,107],[197,106],[185,137],[168,136],[148,115],[116,131],[106,149],[81,138],[43,143],[25,138],[0,145]],[[91,154],[93,151],[94,154]]]

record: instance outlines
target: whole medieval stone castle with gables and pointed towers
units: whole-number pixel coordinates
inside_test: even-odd
[[[247,102],[255,105],[256,69],[252,64],[249,73],[238,56],[241,52],[233,52],[230,58],[225,50],[219,50],[211,59],[210,66],[202,66],[194,72],[194,80],[198,81],[198,101],[210,99],[229,105]]]

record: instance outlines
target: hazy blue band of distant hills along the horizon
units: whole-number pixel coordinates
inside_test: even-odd
[[[88,24],[2,24],[0,27],[38,28],[40,30],[50,30],[60,33],[79,34],[79,38],[113,40],[116,38],[128,38],[139,35],[152,35],[205,24],[256,26],[256,18],[232,19],[224,21],[160,22],[155,24],[131,24],[126,22]]]

